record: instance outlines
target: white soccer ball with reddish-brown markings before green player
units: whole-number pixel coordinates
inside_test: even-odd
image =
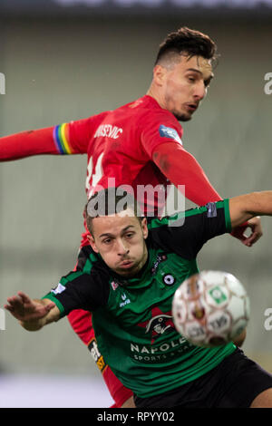
[[[202,271],[176,290],[172,315],[176,329],[191,344],[215,347],[228,344],[245,329],[249,299],[235,276]]]

